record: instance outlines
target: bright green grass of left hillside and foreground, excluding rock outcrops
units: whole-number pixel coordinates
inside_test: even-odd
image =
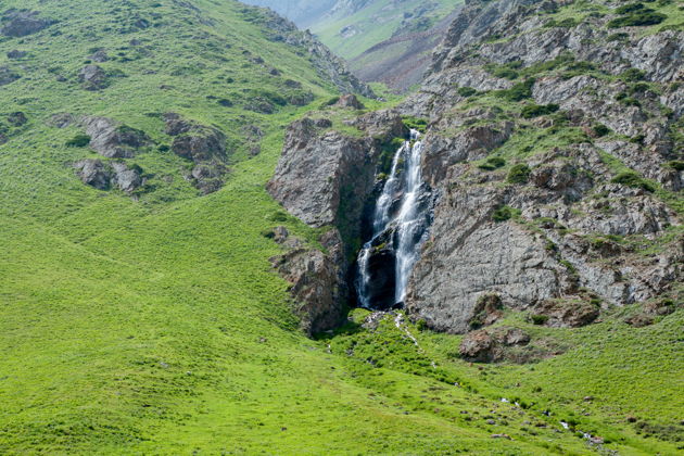
[[[478,393],[455,387],[479,375],[477,367],[442,354],[458,338],[409,326],[426,355],[391,321],[377,335],[349,329],[312,341],[297,331],[288,284],[268,262],[279,248],[261,233],[283,224],[264,183],[286,125],[308,107],[288,105],[273,115],[243,110],[249,90],[280,87],[243,50],[304,84],[317,96],[314,105],[332,89],[305,59],[245,23],[241,7],[193,3],[215,24],[199,24],[195,11],[164,0],[3,3],[39,10],[60,23],[0,42],[0,55],[29,52],[20,62],[0,62],[23,76],[0,87],[0,118],[22,111],[29,119],[9,128],[9,142],[0,145],[0,453],[595,453],[542,408],[499,402],[507,382],[527,375],[522,368],[502,367],[505,380]],[[160,25],[119,34],[136,14]],[[148,51],[131,48],[132,38]],[[126,77],[87,92],[75,74],[94,47],[118,55],[102,66]],[[230,98],[235,105],[221,106],[208,96]],[[153,149],[132,159],[151,175],[139,201],[94,190],[71,167],[94,153],[64,145],[79,128],[47,124],[60,112],[105,115],[164,144],[170,139],[159,114],[168,111],[227,134],[236,152],[224,189],[198,198],[180,177],[188,164]],[[266,137],[262,153],[248,159],[241,128],[254,124]],[[292,218],[284,225],[312,236]],[[647,334],[629,344],[671,338],[667,331]],[[347,343],[359,349],[350,355]],[[368,352],[387,362],[373,366]],[[560,381],[543,376],[558,364],[568,378],[572,359],[545,362],[539,381]],[[601,359],[610,362],[608,355]],[[528,401],[536,395],[520,393]],[[553,396],[548,401],[555,405]],[[489,425],[487,417],[496,422]],[[620,436],[621,427],[600,429]],[[514,440],[492,439],[494,433]],[[613,446],[624,454],[673,448],[630,439]]]

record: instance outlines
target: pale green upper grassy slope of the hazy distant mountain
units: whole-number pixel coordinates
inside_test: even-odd
[[[390,0],[372,1],[351,15],[343,14],[344,10],[342,10],[341,14],[326,17],[312,26],[312,31],[338,55],[351,60],[375,45],[391,38],[395,33],[427,30],[454,11],[461,1],[436,0],[433,2],[436,8],[421,18],[423,23],[420,27],[410,30],[403,28],[402,21],[405,14],[414,13],[425,3],[419,0],[398,3]],[[345,38],[340,30],[347,26],[353,26],[357,33]]]

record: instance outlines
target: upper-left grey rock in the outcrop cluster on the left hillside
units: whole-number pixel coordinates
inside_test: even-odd
[[[140,148],[151,143],[140,130],[106,117],[85,117],[83,125],[90,136],[90,148],[107,159],[130,159]]]

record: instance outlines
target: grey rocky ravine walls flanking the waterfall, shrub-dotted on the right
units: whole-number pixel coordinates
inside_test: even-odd
[[[593,3],[600,13],[468,1],[421,90],[366,115],[428,121],[422,174],[438,201],[405,302],[413,319],[463,333],[514,309],[572,327],[611,306],[681,303],[684,33],[610,27],[621,3]],[[581,20],[558,25],[569,9]],[[379,175],[373,135],[307,128],[291,128],[269,191],[312,226],[359,232]],[[341,206],[353,208],[344,219]]]

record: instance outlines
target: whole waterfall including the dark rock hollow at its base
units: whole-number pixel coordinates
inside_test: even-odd
[[[356,291],[367,308],[402,303],[429,225],[429,191],[422,182],[422,141],[417,130],[396,151],[372,213],[372,236],[357,258]]]

